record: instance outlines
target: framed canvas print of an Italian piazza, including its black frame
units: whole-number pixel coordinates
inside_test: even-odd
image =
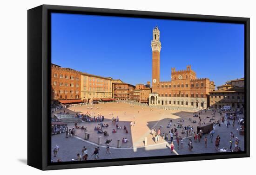
[[[28,10],[28,165],[249,156],[249,18]]]

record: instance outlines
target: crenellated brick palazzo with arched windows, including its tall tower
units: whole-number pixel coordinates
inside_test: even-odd
[[[171,69],[171,81],[160,81],[160,31],[153,29],[152,49],[152,93],[149,106],[166,106],[179,109],[205,109],[209,107],[209,92],[215,90],[214,81],[197,78],[188,65],[185,70]]]

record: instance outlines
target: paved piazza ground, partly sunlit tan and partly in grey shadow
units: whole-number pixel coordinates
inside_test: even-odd
[[[88,107],[93,107],[93,109],[88,109]],[[220,148],[226,147],[229,148],[229,140],[230,140],[230,131],[232,131],[235,137],[239,138],[239,147],[241,150],[244,150],[244,136],[237,133],[236,128],[238,127],[237,120],[235,122],[235,127],[232,125],[227,128],[227,126],[222,124],[221,126],[214,126],[215,133],[213,135],[213,143],[210,141],[210,137],[208,134],[203,135],[203,138],[206,136],[208,138],[207,148],[205,148],[204,141],[202,140],[200,143],[194,142],[193,136],[187,136],[185,134],[181,134],[182,129],[178,129],[179,136],[184,138],[183,140],[183,148],[178,149],[177,142],[174,137],[174,145],[175,151],[171,153],[170,149],[166,147],[166,145],[170,145],[170,141],[162,139],[155,143],[153,136],[150,133],[152,128],[158,130],[160,128],[161,133],[168,133],[172,128],[174,129],[174,124],[177,125],[177,122],[181,119],[184,119],[182,122],[183,126],[193,126],[194,131],[196,131],[196,126],[198,125],[199,118],[193,117],[193,112],[182,112],[182,111],[170,111],[164,109],[154,108],[150,110],[149,106],[131,106],[127,103],[101,103],[96,104],[95,106],[75,106],[68,109],[62,109],[61,111],[68,111],[69,113],[87,113],[93,112],[95,115],[101,113],[104,116],[103,124],[108,124],[108,128],[104,128],[104,131],[108,131],[109,136],[103,136],[103,134],[97,133],[94,131],[95,126],[98,125],[99,122],[82,122],[78,125],[84,126],[88,128],[88,133],[90,137],[88,140],[84,140],[84,131],[81,129],[75,130],[75,136],[65,138],[65,133],[57,134],[52,136],[52,160],[56,162],[58,159],[61,161],[71,161],[72,159],[76,159],[76,155],[78,153],[81,154],[81,150],[83,146],[88,149],[88,160],[93,160],[94,157],[91,156],[93,154],[95,147],[100,147],[99,151],[99,159],[112,159],[112,158],[127,158],[127,157],[141,157],[141,156],[165,156],[165,155],[180,155],[180,154],[197,154],[197,153],[214,153],[218,152],[215,150],[215,138],[217,135],[221,137],[220,139]],[[57,111],[58,113],[60,111]],[[124,113],[125,112],[125,113]],[[110,115],[113,113],[113,115]],[[116,129],[116,124],[112,123],[113,116],[120,119],[120,121],[116,124],[119,126],[127,127],[128,134],[125,131],[117,130],[116,133],[112,133],[112,129]],[[202,121],[205,120],[205,123],[209,122],[209,118],[212,117],[212,111],[207,111],[206,113],[203,111],[201,114]],[[242,118],[243,116],[239,116]],[[196,120],[197,123],[192,123],[189,118],[192,120]],[[220,119],[220,115],[216,113],[214,117],[216,120]],[[169,120],[172,119],[172,126],[167,128]],[[130,126],[131,122],[135,122],[135,125]],[[230,122],[232,123],[232,122]],[[162,127],[160,127],[162,126]],[[73,128],[74,124],[68,124],[68,128]],[[177,128],[177,127],[176,127]],[[102,142],[101,145],[98,145],[98,137],[101,136]],[[117,148],[117,139],[121,139],[126,137],[128,139],[128,143],[121,143],[121,148]],[[145,137],[147,137],[148,144],[144,145]],[[193,149],[188,149],[188,140],[189,138],[193,141]],[[111,154],[106,153],[106,139],[112,139],[110,143],[110,151]],[[56,157],[53,156],[53,147],[55,144],[60,146],[60,150]],[[181,147],[181,145],[180,145]],[[235,145],[233,144],[233,149]]]

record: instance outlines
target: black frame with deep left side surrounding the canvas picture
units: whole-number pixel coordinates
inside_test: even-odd
[[[51,33],[50,13],[94,14],[103,16],[135,17],[150,19],[177,19],[220,23],[244,24],[245,66],[245,151],[241,153],[209,153],[179,156],[157,156],[147,158],[125,158],[88,162],[50,162],[50,64]],[[249,18],[180,14],[167,12],[145,12],[88,8],[75,6],[41,5],[27,11],[27,164],[41,170],[73,169],[129,164],[180,162],[223,158],[249,157]]]

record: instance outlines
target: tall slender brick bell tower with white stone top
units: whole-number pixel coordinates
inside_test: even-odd
[[[160,82],[160,31],[157,26],[153,29],[153,40],[151,41],[152,48],[152,92],[159,87]]]

